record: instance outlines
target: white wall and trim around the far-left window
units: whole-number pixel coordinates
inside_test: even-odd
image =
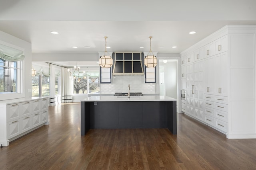
[[[5,97],[1,95],[0,100],[8,100],[12,98],[31,98],[31,43],[28,43],[2,31],[0,31],[0,43],[16,49],[21,49],[24,51],[25,55],[25,59],[23,60],[24,74],[22,75],[22,94],[8,94]]]

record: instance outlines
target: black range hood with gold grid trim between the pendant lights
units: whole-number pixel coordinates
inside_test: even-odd
[[[141,52],[114,54],[113,75],[144,75]]]

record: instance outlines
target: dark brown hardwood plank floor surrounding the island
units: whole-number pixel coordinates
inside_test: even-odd
[[[0,170],[256,169],[256,139],[227,139],[184,114],[178,114],[178,135],[90,129],[80,136],[80,103],[49,107],[49,121],[0,148]]]

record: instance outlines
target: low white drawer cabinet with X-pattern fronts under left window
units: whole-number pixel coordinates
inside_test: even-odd
[[[48,124],[48,98],[0,102],[0,145]]]

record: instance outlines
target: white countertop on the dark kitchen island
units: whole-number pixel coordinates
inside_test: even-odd
[[[121,101],[176,101],[168,96],[90,96],[85,97],[81,102],[121,102]]]

